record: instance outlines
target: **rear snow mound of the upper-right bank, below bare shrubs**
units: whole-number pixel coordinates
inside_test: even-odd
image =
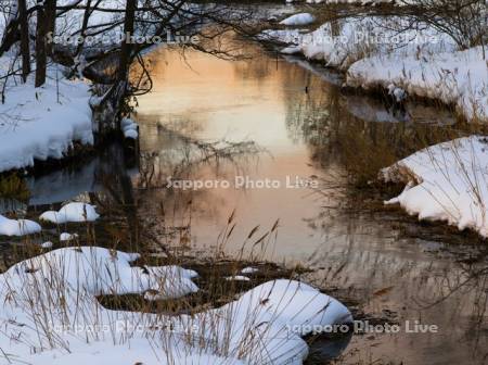
[[[395,54],[434,54],[454,50],[453,41],[432,27],[400,32],[409,21],[401,16],[368,16],[325,23],[313,32],[297,29],[265,30],[260,37],[286,43],[285,53],[300,52],[310,61],[347,71],[356,61],[368,56]]]

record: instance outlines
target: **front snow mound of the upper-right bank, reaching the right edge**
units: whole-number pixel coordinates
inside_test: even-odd
[[[365,89],[391,85],[410,95],[458,106],[468,119],[488,122],[488,66],[481,47],[432,56],[368,58],[352,64],[347,84]]]

